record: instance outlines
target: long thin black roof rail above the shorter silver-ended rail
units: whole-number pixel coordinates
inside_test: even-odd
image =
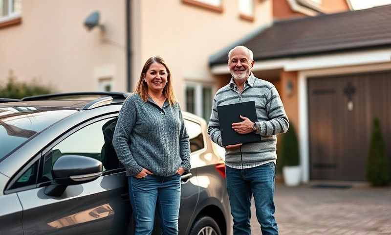
[[[34,95],[27,96],[21,99],[21,101],[34,101],[34,100],[61,100],[62,98],[65,100],[80,99],[83,96],[86,98],[88,96],[101,95],[104,97],[112,97],[113,99],[126,99],[130,95],[130,93],[125,92],[71,92],[71,93],[60,93],[60,94],[42,94],[42,95]],[[100,97],[103,98],[103,97]],[[100,99],[100,98],[95,98]]]

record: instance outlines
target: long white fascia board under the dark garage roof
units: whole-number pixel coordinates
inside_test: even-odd
[[[360,52],[333,53],[327,55],[313,55],[299,58],[274,59],[256,61],[253,70],[265,71],[283,69],[284,71],[305,71],[385,63],[391,61],[391,48],[379,50],[365,50]],[[228,65],[216,65],[211,69],[213,74],[229,73]]]

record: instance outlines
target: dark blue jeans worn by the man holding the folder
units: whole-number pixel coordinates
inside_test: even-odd
[[[278,235],[274,218],[275,164],[267,163],[248,169],[226,166],[227,190],[234,218],[234,235],[251,235],[251,196],[254,195],[262,235]]]

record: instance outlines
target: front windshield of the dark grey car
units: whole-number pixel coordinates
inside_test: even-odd
[[[0,107],[0,161],[46,127],[75,112],[47,107]]]

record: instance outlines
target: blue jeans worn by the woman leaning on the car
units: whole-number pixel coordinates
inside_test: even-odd
[[[180,175],[128,177],[130,204],[136,235],[151,235],[155,209],[161,219],[163,235],[178,235]]]

